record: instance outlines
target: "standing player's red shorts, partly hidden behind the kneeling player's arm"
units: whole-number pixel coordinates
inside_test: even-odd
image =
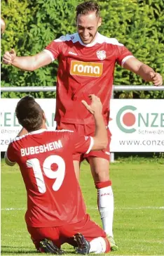
[[[85,136],[95,136],[95,125],[92,124],[69,124],[65,122],[57,122],[57,130],[61,129],[69,129],[74,132],[78,132],[78,134],[82,134]],[[88,154],[81,155],[80,153],[76,153],[73,155],[73,160],[78,160],[79,162],[83,161],[83,159],[87,159],[90,156],[95,156],[97,158],[110,159],[110,143],[111,143],[111,132],[109,128],[107,128],[108,134],[108,145],[107,148],[102,151],[90,151]]]

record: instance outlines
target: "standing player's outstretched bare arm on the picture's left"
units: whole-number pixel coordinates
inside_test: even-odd
[[[12,49],[11,51],[6,51],[6,53],[4,53],[2,61],[4,64],[13,65],[20,70],[34,71],[50,64],[52,59],[46,51],[41,51],[41,53],[38,53],[35,56],[18,57],[16,56],[15,50]]]

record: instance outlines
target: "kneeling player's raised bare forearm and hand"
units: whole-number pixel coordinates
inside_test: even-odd
[[[94,145],[92,150],[98,151],[107,147],[107,127],[104,123],[104,118],[102,116],[102,103],[100,101],[100,98],[98,98],[94,94],[91,94],[89,97],[91,99],[90,105],[88,105],[86,101],[82,101],[82,103],[95,117],[95,136],[93,137]]]

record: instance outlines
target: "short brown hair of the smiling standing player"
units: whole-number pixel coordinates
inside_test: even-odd
[[[78,14],[88,14],[90,11],[95,11],[96,16],[100,16],[100,6],[96,1],[85,1],[76,6],[76,19]]]

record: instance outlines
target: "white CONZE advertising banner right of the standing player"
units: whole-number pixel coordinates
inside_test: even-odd
[[[164,152],[164,100],[111,101],[111,152]]]

